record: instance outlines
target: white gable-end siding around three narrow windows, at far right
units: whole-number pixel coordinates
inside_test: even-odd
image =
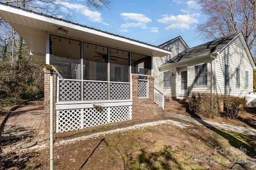
[[[220,51],[216,60],[216,93],[244,97],[248,92],[253,91],[252,65],[244,49],[230,43]],[[225,86],[225,64],[229,65],[229,86]],[[236,88],[236,68],[240,68],[240,88]],[[248,74],[248,80],[246,80],[246,74]],[[248,87],[246,87],[246,81]]]

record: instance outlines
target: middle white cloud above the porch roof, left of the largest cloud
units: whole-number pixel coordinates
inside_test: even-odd
[[[136,13],[121,13],[120,14],[122,18],[125,21],[132,20],[135,22],[126,22],[122,24],[122,27],[127,28],[127,27],[140,27],[140,28],[147,28],[146,23],[151,22],[152,20],[148,17],[146,17],[143,14],[136,14]]]

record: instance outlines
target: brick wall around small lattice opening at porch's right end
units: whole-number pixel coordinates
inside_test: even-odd
[[[132,74],[132,119],[154,116],[154,77],[148,77],[148,98],[138,98],[138,75]]]

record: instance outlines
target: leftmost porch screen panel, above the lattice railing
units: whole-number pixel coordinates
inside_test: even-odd
[[[81,42],[50,35],[50,64],[60,67],[63,78],[81,79]]]

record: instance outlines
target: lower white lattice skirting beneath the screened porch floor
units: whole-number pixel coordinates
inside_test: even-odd
[[[132,119],[132,106],[56,110],[56,132],[73,131]]]

